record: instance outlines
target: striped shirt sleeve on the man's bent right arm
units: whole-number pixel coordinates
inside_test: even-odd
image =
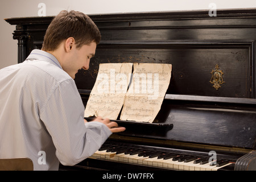
[[[84,105],[73,80],[56,86],[40,119],[52,137],[57,158],[65,166],[73,166],[94,154],[112,134],[103,123],[84,124]]]

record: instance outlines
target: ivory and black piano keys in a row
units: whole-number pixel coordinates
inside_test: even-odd
[[[102,146],[90,158],[180,171],[217,171],[232,164],[228,160],[221,159],[209,163],[209,157],[200,158],[193,155],[117,146]]]

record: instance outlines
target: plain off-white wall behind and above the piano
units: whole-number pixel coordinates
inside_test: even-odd
[[[0,0],[0,69],[17,63],[17,40],[13,40],[15,26],[4,19],[38,16],[39,3],[46,4],[46,16],[61,10],[77,10],[85,14],[127,13],[142,11],[208,10],[210,3],[217,9],[256,7],[255,0]]]

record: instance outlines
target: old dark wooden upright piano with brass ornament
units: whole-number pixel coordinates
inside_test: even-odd
[[[256,170],[256,9],[90,17],[102,40],[75,78],[85,106],[100,63],[168,63],[172,76],[153,123],[117,120],[126,131],[61,169]],[[41,48],[52,18],[6,19],[18,63]]]

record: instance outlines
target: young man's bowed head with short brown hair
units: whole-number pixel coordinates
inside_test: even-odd
[[[88,69],[101,34],[89,16],[79,11],[61,11],[53,18],[44,36],[42,50],[52,53],[72,78],[79,69]]]

